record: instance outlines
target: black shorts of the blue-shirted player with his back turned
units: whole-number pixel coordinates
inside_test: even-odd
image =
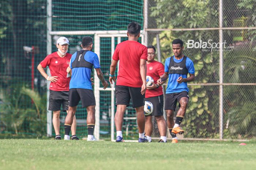
[[[84,88],[71,88],[69,89],[69,106],[77,106],[79,101],[82,102],[82,107],[95,106],[95,97],[93,90]]]

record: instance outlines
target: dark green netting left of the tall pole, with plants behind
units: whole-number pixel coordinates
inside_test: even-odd
[[[0,133],[45,135],[46,0],[1,0],[0,49]]]

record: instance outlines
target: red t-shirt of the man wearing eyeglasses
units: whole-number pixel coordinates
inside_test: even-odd
[[[157,84],[157,80],[160,78],[160,76],[165,73],[165,67],[162,63],[158,61],[152,61],[151,63],[147,64],[147,76],[150,76],[154,79],[154,83]],[[146,90],[145,98],[149,97],[155,97],[160,96],[163,94],[163,88],[162,86],[159,86],[158,88],[153,88],[150,90]]]

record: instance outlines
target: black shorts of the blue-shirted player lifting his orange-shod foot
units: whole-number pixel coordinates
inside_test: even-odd
[[[175,93],[169,93],[165,95],[165,110],[174,110],[176,109],[177,102],[180,102],[180,99],[182,97],[188,97],[187,91],[181,91],[181,92],[175,92]],[[180,103],[179,103],[180,107]]]

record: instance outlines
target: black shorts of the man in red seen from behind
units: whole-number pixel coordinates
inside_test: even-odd
[[[128,86],[116,86],[116,106],[117,105],[130,105],[130,99],[132,99],[132,107],[140,107],[145,104],[145,94],[141,94],[141,87],[128,87]]]

